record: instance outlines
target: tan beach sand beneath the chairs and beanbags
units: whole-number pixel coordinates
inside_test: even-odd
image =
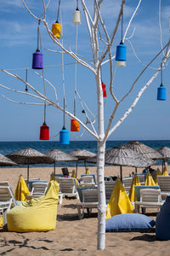
[[[168,166],[169,167],[169,166]],[[72,171],[72,167],[69,171]],[[96,174],[96,168],[90,167],[91,173]],[[51,168],[31,168],[31,177],[40,177],[49,181]],[[61,169],[57,168],[56,173]],[[78,168],[78,177],[84,173],[83,167]],[[134,172],[133,168],[123,167],[123,176]],[[1,168],[0,180],[8,180],[12,189],[16,188],[20,173],[26,178],[26,168]],[[105,167],[105,176],[116,176],[119,167]],[[105,251],[97,251],[97,211],[91,216],[77,217],[77,199],[64,199],[58,206],[56,229],[48,232],[14,233],[0,232],[0,255],[170,255],[170,241],[157,241],[155,230],[150,233],[106,233]],[[156,219],[156,212],[148,213]]]

